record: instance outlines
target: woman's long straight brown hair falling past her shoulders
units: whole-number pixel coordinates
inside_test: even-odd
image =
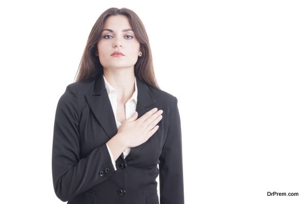
[[[129,24],[134,30],[135,37],[140,42],[142,57],[138,57],[134,66],[135,75],[148,85],[160,89],[155,73],[153,72],[152,56],[145,27],[139,16],[127,8],[109,8],[99,16],[92,28],[89,38],[87,39],[78,67],[76,82],[92,80],[99,74],[103,73],[103,67],[99,61],[99,57],[96,56],[95,53],[97,52],[97,42],[99,41],[103,30],[103,23],[107,17],[112,15],[127,16]]]

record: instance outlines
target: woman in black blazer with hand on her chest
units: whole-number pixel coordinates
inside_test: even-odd
[[[162,119],[163,110],[163,119]],[[131,10],[96,21],[76,82],[55,114],[52,176],[68,203],[184,203],[176,97],[156,83],[149,40]],[[158,166],[159,165],[159,168]]]

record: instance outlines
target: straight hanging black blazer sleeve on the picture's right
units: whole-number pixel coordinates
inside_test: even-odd
[[[184,204],[181,122],[176,97],[160,155],[159,171],[160,204]]]

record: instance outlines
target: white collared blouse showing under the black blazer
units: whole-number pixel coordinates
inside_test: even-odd
[[[117,94],[116,94],[116,90],[111,86],[111,84],[109,84],[105,77],[103,76],[104,79],[104,84],[105,84],[105,88],[107,90],[107,94],[108,97],[111,101],[111,105],[112,105],[112,109],[114,112],[114,116],[115,116],[115,121],[116,121],[116,126],[117,129],[119,129],[119,127],[121,126],[121,123],[117,121],[116,118],[116,110],[117,110]],[[137,87],[137,79],[135,77],[135,92],[133,93],[133,95],[131,96],[131,98],[126,102],[125,104],[125,113],[126,113],[126,119],[130,118],[134,112],[136,111],[136,107],[137,107],[137,102],[138,102],[138,87]],[[111,152],[111,150],[109,149],[108,145],[106,144],[107,150],[111,156],[111,160],[114,166],[114,169],[116,170],[116,165],[115,165],[115,161],[113,158],[113,154]],[[124,154],[124,158],[126,158],[126,156],[130,153],[130,148],[126,148],[123,151]]]

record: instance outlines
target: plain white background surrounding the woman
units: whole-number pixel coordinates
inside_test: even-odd
[[[1,203],[63,203],[52,184],[55,109],[111,7],[142,19],[158,84],[178,98],[185,203],[307,202],[305,1],[6,2]]]

